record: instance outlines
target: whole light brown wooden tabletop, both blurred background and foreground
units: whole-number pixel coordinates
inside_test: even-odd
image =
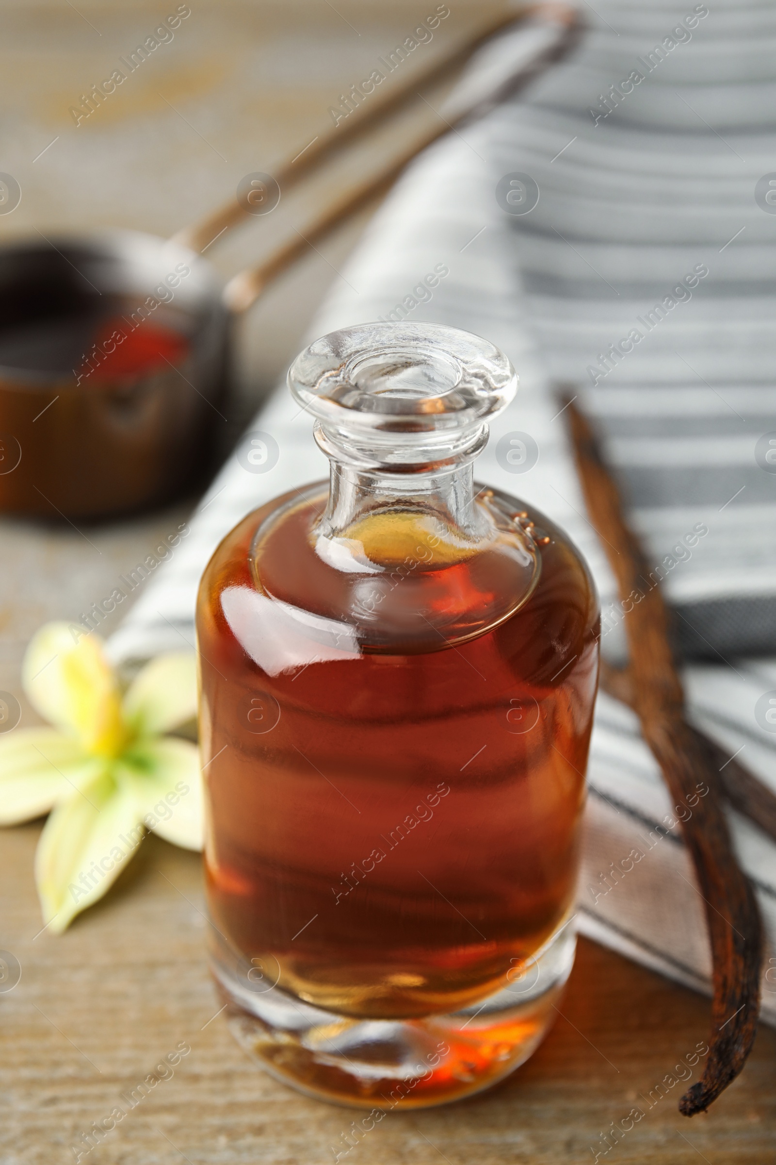
[[[245,172],[271,171],[291,147],[301,148],[325,127],[336,94],[434,5],[198,0],[175,41],[147,62],[133,85],[76,128],[67,108],[78,94],[109,76],[114,58],[131,51],[175,7],[135,0],[5,6],[0,85],[9,132],[0,169],[16,177],[23,197],[13,214],[0,217],[0,240],[34,228],[87,225],[172,232],[228,196]],[[447,28],[428,51],[498,7],[450,3]],[[384,148],[375,147],[377,154]],[[342,174],[327,181],[330,191]],[[229,274],[247,255],[258,256],[284,228],[304,224],[316,197],[305,195],[285,207],[286,218],[278,216],[271,231],[262,224],[235,236],[214,256],[216,263]],[[355,224],[311,254],[245,320],[233,433],[294,355],[357,230]],[[192,503],[90,528],[88,541],[70,527],[0,522],[0,690],[20,699],[22,723],[35,722],[19,665],[36,627],[51,617],[77,619],[173,530]],[[175,1075],[81,1162],[334,1162],[332,1146],[341,1148],[341,1134],[357,1114],[307,1100],[265,1076],[233,1040],[223,1017],[214,1018],[219,1003],[204,958],[198,856],[150,836],[109,896],[56,938],[38,933],[33,882],[38,833],[40,822],[0,834],[0,948],[22,969],[17,986],[0,991],[0,1163],[74,1162],[71,1146],[84,1148],[81,1135],[92,1122],[108,1116],[120,1094],[180,1042],[191,1052]],[[641,1094],[707,1036],[706,1000],[585,940],[561,1010],[544,1044],[506,1083],[448,1108],[391,1114],[340,1160],[593,1162],[611,1122],[634,1104],[646,1108]],[[709,1115],[679,1116],[677,1086],[599,1159],[771,1165],[775,1066],[776,1033],[763,1029],[743,1074]]]

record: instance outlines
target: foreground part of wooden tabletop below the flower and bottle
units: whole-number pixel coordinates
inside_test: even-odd
[[[213,1018],[198,856],[147,839],[104,902],[62,938],[36,938],[38,832],[35,824],[1,835],[0,946],[22,967],[14,990],[0,994],[2,1165],[74,1162],[70,1146],[181,1040],[191,1053],[175,1075],[81,1163],[172,1165],[181,1153],[194,1165],[333,1163],[330,1146],[341,1146],[359,1114],[277,1083]],[[706,1000],[582,940],[560,1007],[544,1044],[506,1083],[447,1108],[390,1114],[340,1160],[592,1162],[600,1132],[639,1104],[645,1118],[607,1162],[695,1165],[700,1152],[711,1165],[773,1165],[774,1031],[761,1030],[740,1079],[689,1122],[676,1111],[681,1085],[647,1106],[656,1083],[705,1040]]]

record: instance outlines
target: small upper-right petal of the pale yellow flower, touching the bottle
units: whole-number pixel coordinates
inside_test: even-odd
[[[197,715],[197,656],[176,651],[145,664],[124,697],[124,716],[138,736],[157,736]]]

